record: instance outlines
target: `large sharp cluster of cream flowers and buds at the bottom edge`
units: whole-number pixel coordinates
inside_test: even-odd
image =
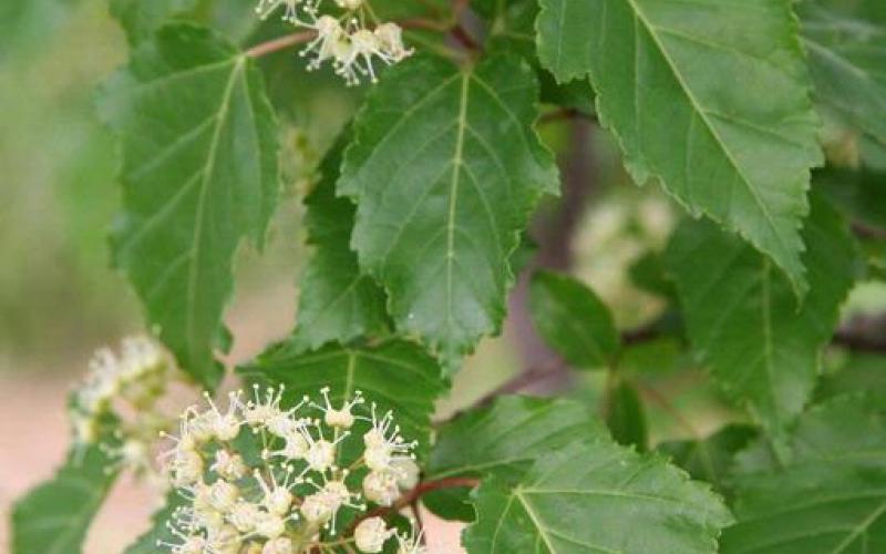
[[[328,388],[320,392],[322,403],[303,397],[285,407],[284,387],[256,386],[251,399],[229,393],[224,410],[208,394],[207,407],[185,410],[161,459],[186,503],[167,522],[175,538],[157,545],[174,554],[375,553],[391,541],[401,554],[426,552],[414,529],[367,514],[415,486],[415,443],[390,411],[365,410],[359,391],[339,407]]]

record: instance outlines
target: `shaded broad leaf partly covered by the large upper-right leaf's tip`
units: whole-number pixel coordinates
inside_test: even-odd
[[[808,400],[855,276],[846,225],[821,197],[813,199],[803,232],[812,288],[800,308],[767,258],[712,224],[682,225],[668,252],[693,349],[723,390],[770,429]]]

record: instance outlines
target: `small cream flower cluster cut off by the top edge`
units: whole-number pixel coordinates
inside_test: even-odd
[[[313,31],[316,37],[299,55],[310,58],[309,70],[331,62],[349,86],[362,78],[377,81],[375,59],[391,65],[412,53],[403,45],[400,25],[378,21],[367,0],[334,0],[337,14],[324,13],[321,4],[322,0],[259,0],[256,12],[264,19],[282,8],[284,21]]]

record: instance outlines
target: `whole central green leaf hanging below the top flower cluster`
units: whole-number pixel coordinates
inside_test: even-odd
[[[513,57],[464,70],[416,57],[369,93],[344,155],[360,266],[388,290],[398,330],[447,371],[501,329],[508,258],[539,196],[557,191],[532,129],[537,89]]]

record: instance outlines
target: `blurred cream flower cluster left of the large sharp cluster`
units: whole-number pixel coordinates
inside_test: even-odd
[[[107,348],[96,351],[86,378],[73,393],[70,414],[75,443],[80,448],[95,444],[105,416],[113,413],[119,420],[119,444],[101,444],[115,459],[109,471],[126,468],[158,476],[151,452],[157,431],[175,422],[159,406],[174,371],[166,353],[146,337],[123,339],[120,356]]]

